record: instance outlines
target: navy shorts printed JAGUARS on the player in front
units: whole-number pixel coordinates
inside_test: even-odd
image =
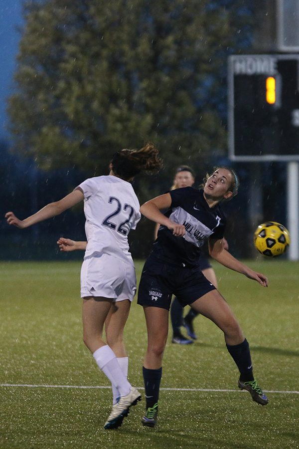
[[[171,265],[150,256],[142,271],[137,303],[169,310],[172,295],[185,306],[215,289],[199,267]]]

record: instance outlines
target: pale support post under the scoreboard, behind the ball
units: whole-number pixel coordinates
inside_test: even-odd
[[[291,237],[290,260],[299,260],[299,162],[287,165],[287,220]]]

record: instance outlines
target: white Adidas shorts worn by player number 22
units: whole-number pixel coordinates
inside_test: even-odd
[[[81,298],[101,296],[114,302],[129,299],[136,293],[135,267],[129,261],[109,254],[83,260],[81,267]]]

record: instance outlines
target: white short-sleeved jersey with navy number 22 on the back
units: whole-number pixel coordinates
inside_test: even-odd
[[[130,183],[116,176],[90,178],[78,186],[84,194],[87,247],[84,259],[110,254],[132,260],[128,234],[141,218],[140,204]]]

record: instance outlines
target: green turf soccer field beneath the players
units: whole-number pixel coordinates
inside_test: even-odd
[[[248,264],[268,275],[268,289],[215,270],[269,405],[238,390],[222,333],[200,316],[193,345],[171,344],[169,332],[158,426],[141,425],[142,401],[120,429],[104,431],[110,389],[75,388],[109,385],[81,338],[80,263],[0,263],[0,448],[299,448],[299,263]],[[142,388],[146,327],[136,302],[126,344],[129,379]]]

